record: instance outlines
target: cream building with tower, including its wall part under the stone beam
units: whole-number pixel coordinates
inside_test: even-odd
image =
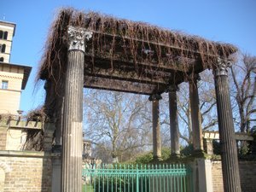
[[[20,113],[21,90],[26,88],[32,69],[10,62],[15,27],[15,23],[0,20],[0,116],[12,119],[16,119]],[[9,127],[8,130],[1,129],[0,135],[0,149],[17,150],[22,148],[26,131],[18,127]]]

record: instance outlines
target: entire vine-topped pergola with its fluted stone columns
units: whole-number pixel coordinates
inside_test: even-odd
[[[154,159],[159,160],[160,95],[169,93],[172,155],[179,156],[177,86],[184,81],[189,81],[193,145],[201,152],[197,80],[208,68],[216,87],[224,190],[241,191],[227,76],[228,58],[235,52],[230,44],[62,9],[49,34],[38,74],[38,79],[46,80],[45,112],[48,120],[55,122],[56,144],[62,148],[61,190],[81,191],[84,87],[148,95],[153,102]]]

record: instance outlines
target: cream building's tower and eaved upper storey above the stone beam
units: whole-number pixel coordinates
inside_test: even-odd
[[[32,67],[10,63],[15,23],[0,20],[0,114],[17,114]]]

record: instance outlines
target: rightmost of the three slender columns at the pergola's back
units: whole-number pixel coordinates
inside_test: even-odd
[[[189,100],[191,108],[193,147],[195,153],[201,153],[203,151],[201,112],[199,107],[199,96],[197,88],[198,79],[198,74],[194,74],[194,76],[189,79]]]

